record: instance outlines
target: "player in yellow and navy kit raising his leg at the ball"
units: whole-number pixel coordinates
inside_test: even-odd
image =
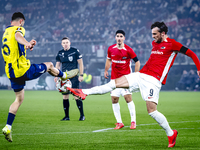
[[[36,41],[32,39],[28,42],[25,36],[25,29],[23,25],[25,17],[21,12],[15,12],[12,15],[11,26],[5,29],[2,38],[1,52],[5,62],[5,72],[10,79],[11,87],[15,92],[15,101],[9,108],[7,124],[2,129],[5,138],[12,142],[11,127],[15,119],[18,108],[24,100],[24,86],[26,81],[33,80],[48,72],[52,76],[61,77],[62,80],[72,78],[77,75],[76,70],[70,72],[62,72],[54,67],[52,62],[44,62],[41,64],[31,64],[26,59],[26,50],[33,50]]]

